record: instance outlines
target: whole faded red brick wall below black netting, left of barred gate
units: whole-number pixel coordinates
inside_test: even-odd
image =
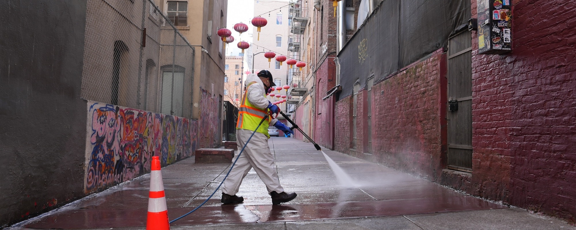
[[[437,52],[372,88],[373,128],[367,132],[366,89],[357,95],[357,149],[351,150],[353,96],[336,102],[336,150],[431,180],[443,166],[445,55]],[[372,155],[367,136],[372,135]]]

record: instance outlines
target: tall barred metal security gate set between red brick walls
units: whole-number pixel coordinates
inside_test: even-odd
[[[472,172],[472,35],[448,41],[448,168]]]

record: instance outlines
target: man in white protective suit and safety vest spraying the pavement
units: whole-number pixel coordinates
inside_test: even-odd
[[[273,86],[274,81],[272,74],[268,70],[262,70],[256,74],[249,74],[244,83],[246,91],[242,98],[240,111],[238,112],[238,121],[236,125],[236,140],[238,150],[241,150],[246,145],[244,152],[238,158],[238,161],[230,171],[230,175],[224,181],[222,187],[222,200],[223,204],[240,203],[244,201],[243,197],[236,196],[242,179],[246,177],[248,171],[254,168],[258,177],[266,184],[268,194],[272,197],[272,204],[278,205],[284,202],[289,202],[296,198],[296,193],[286,193],[278,179],[276,166],[274,164],[274,157],[268,147],[268,127],[274,126],[285,133],[294,134],[290,128],[278,122],[275,118],[268,116],[258,127],[260,121],[272,112],[278,114],[280,109],[276,105],[272,105],[266,99],[266,93]],[[257,128],[258,127],[258,128]],[[257,128],[257,129],[256,129]],[[254,133],[250,142],[247,143],[249,137]],[[236,159],[238,156],[234,156]],[[233,160],[234,160],[233,159]]]

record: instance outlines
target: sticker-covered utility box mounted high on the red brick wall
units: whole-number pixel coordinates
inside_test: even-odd
[[[512,0],[478,0],[478,53],[512,50]]]

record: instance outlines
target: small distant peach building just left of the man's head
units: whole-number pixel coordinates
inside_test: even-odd
[[[242,56],[226,56],[224,76],[224,101],[231,102],[234,106],[240,107],[242,99]]]

